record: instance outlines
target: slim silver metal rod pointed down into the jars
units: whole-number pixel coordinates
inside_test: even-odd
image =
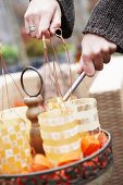
[[[64,95],[63,97],[63,101],[66,101],[71,94],[77,88],[77,86],[82,83],[82,81],[84,79],[84,77],[86,76],[85,72],[81,73],[81,75],[77,77],[77,79],[74,82],[74,84],[72,85],[72,87],[67,90],[67,92]]]

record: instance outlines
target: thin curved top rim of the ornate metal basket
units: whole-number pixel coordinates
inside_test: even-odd
[[[111,143],[111,134],[104,130],[101,130],[107,136],[108,136],[108,141],[107,144],[100,148],[98,151],[94,152],[93,155],[90,155],[89,157],[86,157],[86,158],[83,158],[78,161],[75,161],[75,162],[72,162],[70,164],[64,164],[62,166],[57,166],[57,168],[52,168],[52,169],[48,169],[48,170],[44,170],[44,171],[39,171],[39,172],[30,172],[30,173],[27,173],[27,174],[13,174],[13,175],[0,175],[0,178],[1,177],[5,177],[5,178],[12,178],[12,177],[26,177],[26,176],[32,176],[32,175],[45,175],[45,174],[50,174],[50,173],[54,173],[57,172],[58,170],[61,171],[61,170],[64,170],[66,168],[71,168],[71,166],[74,166],[74,165],[77,165],[82,162],[87,162],[87,161],[90,161],[91,158],[95,158],[96,156],[100,155],[102,152],[102,150],[107,149],[109,144]]]

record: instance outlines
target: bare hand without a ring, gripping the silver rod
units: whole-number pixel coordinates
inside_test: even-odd
[[[95,34],[85,34],[82,40],[82,58],[78,73],[85,71],[87,76],[94,76],[96,71],[109,63],[111,54],[116,51],[116,45],[104,37]]]

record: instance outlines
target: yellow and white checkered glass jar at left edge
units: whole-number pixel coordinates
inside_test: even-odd
[[[26,123],[11,110],[0,115],[0,174],[28,173],[32,161]]]

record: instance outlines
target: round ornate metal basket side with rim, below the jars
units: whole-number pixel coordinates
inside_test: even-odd
[[[77,162],[36,173],[0,175],[1,185],[83,185],[103,184],[112,174],[113,155],[110,133],[108,141],[94,155]]]

